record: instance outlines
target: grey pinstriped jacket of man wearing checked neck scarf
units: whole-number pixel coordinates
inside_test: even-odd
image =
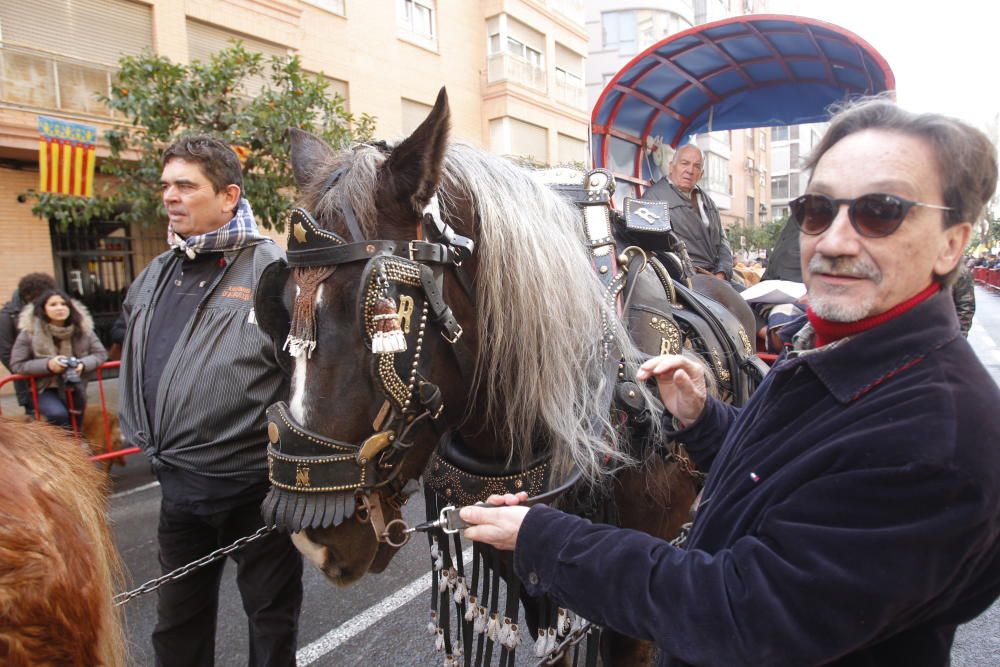
[[[288,384],[271,338],[253,314],[253,292],[264,269],[283,251],[261,243],[225,253],[216,277],[170,353],[150,423],[143,400],[143,362],[153,309],[164,276],[177,259],[167,251],[129,287],[128,329],[120,374],[122,435],[154,467],[205,477],[266,479],[264,411],[287,397]]]

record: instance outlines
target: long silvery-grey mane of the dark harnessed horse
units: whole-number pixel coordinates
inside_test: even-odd
[[[366,145],[338,154],[325,169],[349,160],[341,184],[318,192],[324,176],[317,174],[304,203],[323,220],[350,202],[365,234],[377,237],[373,202],[385,159]],[[579,211],[511,161],[453,143],[438,203],[442,217],[469,234],[461,202],[472,202],[477,225],[477,382],[512,455],[527,457],[523,445],[542,438],[556,454],[557,478],[572,462],[595,482],[609,467],[632,463],[610,423],[608,336],[629,362],[637,353],[617,314],[602,305]],[[658,424],[662,407],[642,392]]]

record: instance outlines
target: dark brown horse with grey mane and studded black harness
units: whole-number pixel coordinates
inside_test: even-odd
[[[561,502],[588,511],[614,497],[620,525],[662,537],[688,521],[697,490],[682,452],[634,446],[661,440],[662,406],[629,381],[643,353],[614,296],[654,259],[633,249],[599,281],[578,208],[510,161],[449,143],[448,121],[442,89],[392,148],[335,151],[291,130],[291,271],[262,275],[254,306],[291,352],[290,399],[268,411],[263,512],[338,585],[386,567],[425,469],[432,514],[573,487]],[[680,351],[680,328],[657,312],[640,313],[657,349],[670,331]],[[626,413],[641,428],[623,428]],[[461,556],[456,568],[447,545],[431,541],[450,594]]]

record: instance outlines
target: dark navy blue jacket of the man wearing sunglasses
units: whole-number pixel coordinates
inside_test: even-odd
[[[517,571],[664,665],[947,665],[1000,595],[998,409],[939,293],[676,434],[711,464],[686,551],[536,507]]]

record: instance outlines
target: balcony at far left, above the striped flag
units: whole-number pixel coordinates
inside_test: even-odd
[[[111,117],[108,95],[116,69],[26,47],[0,45],[0,102],[46,111]]]

